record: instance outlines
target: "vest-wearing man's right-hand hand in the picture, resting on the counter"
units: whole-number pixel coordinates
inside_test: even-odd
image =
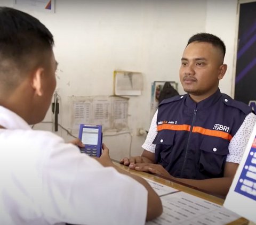
[[[161,175],[161,176],[164,176],[166,178],[173,178],[170,173],[165,170],[163,168],[162,165],[160,164],[154,164],[154,163],[136,163],[133,165],[134,168],[131,168],[130,166],[130,169],[134,169],[134,170],[137,170],[137,171],[143,171],[143,172],[150,172],[150,173],[153,173],[153,174],[157,174],[157,175]]]

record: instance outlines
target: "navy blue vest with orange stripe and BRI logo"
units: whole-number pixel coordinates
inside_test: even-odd
[[[153,141],[156,162],[178,178],[223,177],[229,142],[250,112],[219,89],[199,103],[188,94],[165,99]]]

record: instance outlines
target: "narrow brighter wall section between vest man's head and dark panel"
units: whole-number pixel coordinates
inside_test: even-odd
[[[236,68],[236,43],[238,30],[237,1],[207,1],[205,31],[215,34],[226,45],[225,63],[228,70],[220,81],[220,90],[232,97]]]

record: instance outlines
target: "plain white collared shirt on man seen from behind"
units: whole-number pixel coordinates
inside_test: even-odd
[[[147,190],[0,106],[0,224],[145,224]]]

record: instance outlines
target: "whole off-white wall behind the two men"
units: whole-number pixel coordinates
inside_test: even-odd
[[[130,144],[131,155],[140,155],[145,137],[136,136],[136,130],[149,128],[151,82],[179,82],[183,49],[197,32],[212,32],[225,41],[229,70],[220,87],[230,95],[236,4],[233,0],[56,0],[55,13],[25,9],[54,35],[62,126],[69,127],[68,96],[112,95],[114,70],[142,72],[142,95],[129,101],[131,134],[103,137],[113,159],[129,155]],[[0,5],[12,6],[12,0]],[[179,92],[183,93],[181,85]],[[45,121],[51,121],[50,112]],[[35,129],[51,130],[52,126],[37,124]],[[58,134],[71,139],[64,130]]]

